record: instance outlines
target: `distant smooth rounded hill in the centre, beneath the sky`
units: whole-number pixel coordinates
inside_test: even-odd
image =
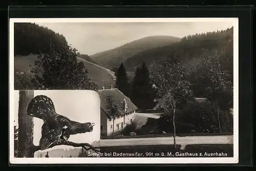
[[[104,68],[117,68],[120,66],[121,62],[138,52],[170,45],[178,41],[180,41],[180,38],[174,36],[148,36],[129,42],[115,49],[91,55],[90,57]]]

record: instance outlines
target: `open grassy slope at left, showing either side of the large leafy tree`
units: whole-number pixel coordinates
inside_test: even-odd
[[[31,69],[31,66],[34,66],[34,62],[37,59],[37,55],[28,55],[28,56],[15,56],[14,57],[14,71],[28,71]],[[77,58],[78,61],[82,61],[84,66],[88,69],[88,76],[91,80],[98,84],[98,87],[101,88],[109,87],[111,84],[114,85],[113,80],[114,74],[109,70],[96,65],[90,61],[87,61],[82,58]],[[14,78],[17,79],[17,78]]]

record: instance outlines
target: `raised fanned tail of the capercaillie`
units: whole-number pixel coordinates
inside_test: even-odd
[[[27,114],[42,120],[47,120],[57,115],[52,100],[45,95],[35,96],[30,101]]]

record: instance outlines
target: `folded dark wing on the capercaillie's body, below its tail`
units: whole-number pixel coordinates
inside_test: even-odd
[[[39,145],[42,150],[49,148],[53,143],[60,140],[62,134],[62,127],[58,127],[55,122],[45,121],[42,124],[41,130],[42,137],[39,141]]]

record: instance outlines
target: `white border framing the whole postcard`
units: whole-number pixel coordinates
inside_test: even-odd
[[[105,22],[232,22],[233,23],[233,157],[232,158],[14,158],[14,23]],[[10,18],[9,20],[9,126],[12,164],[189,164],[238,163],[238,18]]]

